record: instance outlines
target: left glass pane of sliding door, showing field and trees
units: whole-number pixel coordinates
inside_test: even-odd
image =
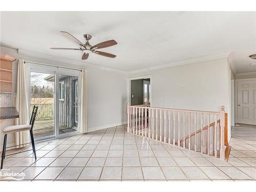
[[[35,138],[55,135],[54,76],[49,73],[30,72],[30,113],[33,105],[38,106],[33,128]]]

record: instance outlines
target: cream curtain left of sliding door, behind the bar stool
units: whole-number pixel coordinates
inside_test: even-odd
[[[15,119],[15,125],[29,124],[29,106],[27,90],[27,63],[23,59],[18,59],[17,88],[16,88],[16,109],[19,118]],[[30,141],[29,131],[15,133],[15,144],[20,145]],[[25,145],[21,145],[23,147]]]

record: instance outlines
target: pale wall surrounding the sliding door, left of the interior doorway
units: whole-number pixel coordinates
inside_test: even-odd
[[[47,63],[50,65],[72,67],[77,69],[87,69],[88,81],[88,129],[89,131],[103,129],[126,122],[126,102],[127,102],[127,77],[126,74],[95,69],[76,65],[76,61],[59,62],[49,59],[36,58],[20,55],[16,49],[1,47],[2,54],[9,54],[16,58],[29,61]],[[13,62],[13,93],[16,92],[17,61]],[[13,106],[15,105],[13,97]],[[14,124],[13,120],[6,120],[0,124],[0,129],[7,125]],[[1,133],[1,132],[0,132]],[[3,134],[2,134],[3,137]],[[12,137],[12,136],[10,136]],[[3,142],[1,138],[0,146]],[[8,139],[8,143],[13,143],[13,137]]]

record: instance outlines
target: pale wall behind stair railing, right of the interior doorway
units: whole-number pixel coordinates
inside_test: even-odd
[[[152,76],[153,106],[220,111],[221,105],[228,106],[227,74],[226,58],[221,58],[129,74],[129,77]]]

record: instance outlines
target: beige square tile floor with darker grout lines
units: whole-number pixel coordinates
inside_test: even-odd
[[[226,162],[126,133],[120,125],[37,143],[36,161],[32,151],[10,156],[2,175],[23,172],[22,180],[29,181],[255,181],[256,129],[236,126],[231,134],[232,150]]]

